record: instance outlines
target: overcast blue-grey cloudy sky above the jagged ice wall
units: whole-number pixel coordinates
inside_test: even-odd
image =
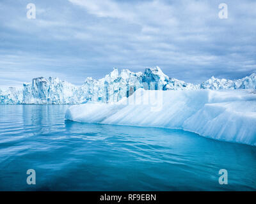
[[[1,0],[0,86],[36,77],[79,85],[113,67],[159,66],[193,83],[242,78],[256,71],[255,8],[255,0]]]

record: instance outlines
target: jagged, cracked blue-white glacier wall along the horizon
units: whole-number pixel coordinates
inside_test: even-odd
[[[114,103],[127,98],[134,91],[145,90],[196,90],[196,89],[256,89],[256,74],[239,80],[211,77],[202,84],[170,78],[161,68],[147,68],[134,73],[114,68],[106,77],[95,80],[86,78],[81,86],[70,84],[59,78],[34,78],[21,88],[0,88],[0,104],[83,104],[88,102]]]

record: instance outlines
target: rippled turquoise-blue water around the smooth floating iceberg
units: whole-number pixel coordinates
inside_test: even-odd
[[[256,147],[181,130],[82,124],[67,105],[0,105],[0,190],[252,191]],[[36,171],[28,185],[26,171]],[[228,171],[220,185],[218,171]]]

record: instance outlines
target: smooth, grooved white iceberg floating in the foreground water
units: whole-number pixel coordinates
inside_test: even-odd
[[[65,119],[184,129],[215,140],[256,145],[256,92],[138,89],[129,98],[115,103],[70,106]]]

